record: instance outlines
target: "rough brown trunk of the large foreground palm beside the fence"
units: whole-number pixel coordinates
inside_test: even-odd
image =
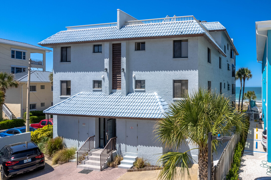
[[[208,178],[208,146],[205,148],[200,148],[199,150],[199,157],[198,157],[198,164],[199,164],[199,179],[200,180],[207,180]],[[212,179],[214,179],[214,162],[212,158]]]

